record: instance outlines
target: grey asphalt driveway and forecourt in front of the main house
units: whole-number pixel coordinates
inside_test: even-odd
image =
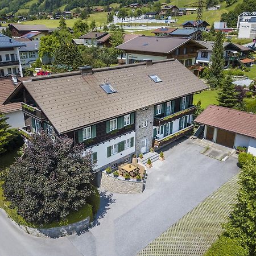
[[[153,163],[142,194],[102,193],[96,225],[80,236],[43,240],[9,220],[2,229],[1,213],[1,255],[135,255],[238,173],[235,156],[220,162],[201,150],[190,139],[166,148],[166,160]]]

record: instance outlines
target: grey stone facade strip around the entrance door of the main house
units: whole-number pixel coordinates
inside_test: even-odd
[[[147,121],[146,127],[142,127],[144,121]],[[154,123],[154,106],[150,106],[145,110],[141,109],[136,112],[135,154],[139,155],[141,153],[143,139],[147,139],[146,152],[150,151],[150,148],[152,147],[153,123]]]

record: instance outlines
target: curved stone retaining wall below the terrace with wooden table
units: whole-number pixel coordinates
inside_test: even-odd
[[[114,193],[142,193],[143,182],[121,180],[102,172],[101,187]]]

